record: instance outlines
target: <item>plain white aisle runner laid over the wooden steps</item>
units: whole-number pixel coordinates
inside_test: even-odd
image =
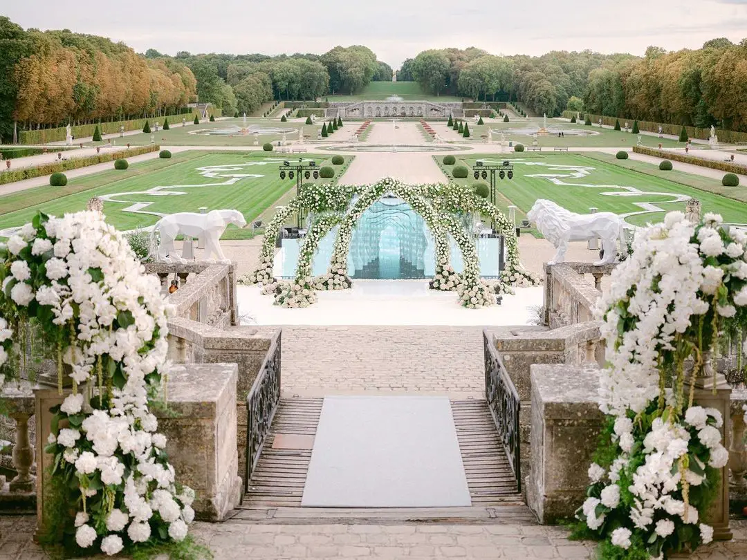
[[[471,505],[449,399],[325,397],[301,505]]]

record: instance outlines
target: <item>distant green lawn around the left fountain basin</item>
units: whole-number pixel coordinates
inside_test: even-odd
[[[163,124],[163,120],[159,121]],[[151,123],[151,129],[154,122]],[[298,129],[303,126],[304,136],[309,136],[316,140],[318,131],[322,128],[322,121],[318,121],[318,125],[306,125],[303,121],[300,122],[280,122],[279,119],[267,120],[267,119],[249,119],[247,117],[247,128],[251,126],[261,126],[262,128],[288,128],[292,132],[288,132],[287,140],[298,140]],[[150,137],[153,136],[153,140],[161,146],[254,146],[254,134],[241,134],[236,131],[232,135],[217,135],[217,134],[193,134],[195,131],[207,130],[210,128],[244,128],[244,119],[225,119],[218,120],[216,122],[203,121],[199,125],[182,126],[182,122],[171,123],[170,129],[163,130],[159,129],[158,132],[152,132],[152,134],[132,134],[131,136],[125,136],[123,138],[115,138],[117,146],[123,146],[126,143],[131,143],[132,146],[143,146],[144,144],[150,143]],[[343,129],[344,130],[344,129]],[[282,140],[282,134],[260,134],[258,141],[259,146],[265,142],[276,143],[277,140]],[[96,143],[88,143],[88,146],[95,146]]]

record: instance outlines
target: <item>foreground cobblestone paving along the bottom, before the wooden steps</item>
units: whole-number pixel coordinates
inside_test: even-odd
[[[704,547],[692,559],[747,558],[747,521],[734,540]],[[215,560],[502,558],[592,559],[594,544],[568,541],[560,527],[514,525],[247,525],[195,523],[193,535]],[[0,517],[0,560],[43,560],[31,541],[34,517]],[[100,559],[102,557],[96,557]],[[163,559],[159,559],[163,560]]]

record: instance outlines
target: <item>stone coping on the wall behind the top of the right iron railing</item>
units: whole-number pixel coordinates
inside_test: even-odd
[[[527,350],[562,352],[568,346],[587,340],[598,340],[601,336],[599,321],[586,321],[558,329],[523,329],[492,333],[493,342],[500,352]]]

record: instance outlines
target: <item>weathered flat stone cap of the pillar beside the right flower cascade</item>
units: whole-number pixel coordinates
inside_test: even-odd
[[[601,370],[595,365],[533,364],[530,370],[532,393],[538,397],[542,417],[577,420],[604,416],[598,403]]]

